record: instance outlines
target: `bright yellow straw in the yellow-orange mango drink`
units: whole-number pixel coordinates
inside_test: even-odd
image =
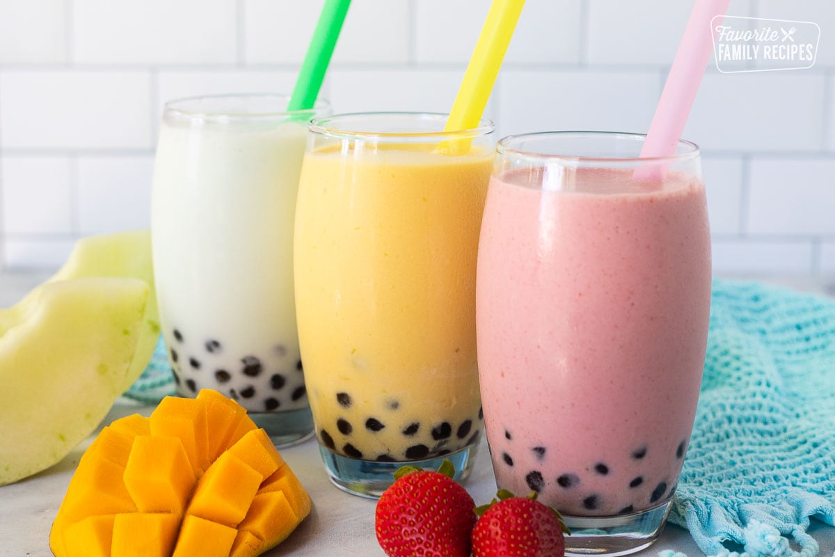
[[[444,131],[478,128],[524,0],[493,0]]]

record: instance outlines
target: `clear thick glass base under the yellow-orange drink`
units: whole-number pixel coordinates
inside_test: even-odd
[[[448,459],[455,468],[453,479],[462,482],[468,478],[473,469],[476,453],[478,453],[478,441],[457,453],[445,454],[442,457],[394,463],[348,458],[342,454],[331,453],[321,445],[319,445],[319,452],[332,484],[349,494],[377,499],[394,483],[394,473],[402,466],[410,465],[424,470],[437,470],[444,459]]]

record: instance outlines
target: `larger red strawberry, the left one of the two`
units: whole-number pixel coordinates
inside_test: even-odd
[[[377,542],[389,557],[468,557],[475,503],[453,473],[448,460],[438,472],[397,470],[375,514]]]

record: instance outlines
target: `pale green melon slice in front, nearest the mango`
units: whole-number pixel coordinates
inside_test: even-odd
[[[135,380],[149,286],[89,277],[0,310],[0,485],[58,463]]]

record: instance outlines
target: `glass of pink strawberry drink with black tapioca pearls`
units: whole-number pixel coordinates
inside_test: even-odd
[[[711,301],[700,154],[681,141],[639,160],[644,139],[510,136],[488,188],[477,326],[493,471],[563,514],[566,554],[657,538],[696,413]]]

